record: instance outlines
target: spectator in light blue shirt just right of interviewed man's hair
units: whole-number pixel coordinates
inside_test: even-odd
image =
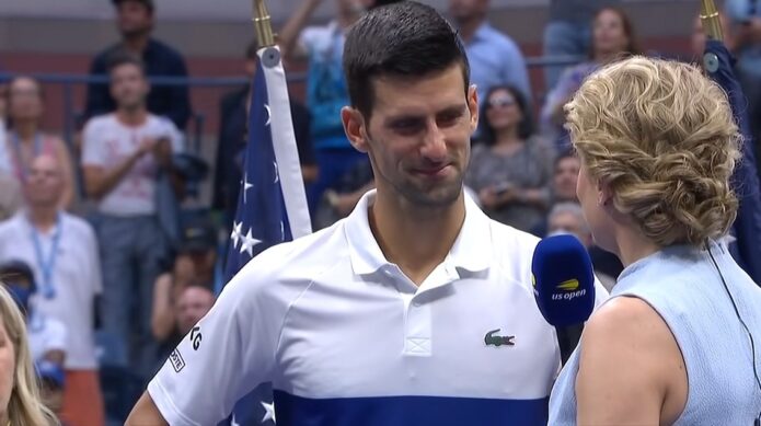
[[[450,0],[449,13],[465,45],[471,83],[478,101],[497,85],[512,85],[531,104],[531,87],[523,54],[516,42],[486,22],[488,0]]]

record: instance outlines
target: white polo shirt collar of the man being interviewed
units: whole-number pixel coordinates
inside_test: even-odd
[[[346,218],[344,231],[349,249],[351,268],[357,275],[377,273],[391,265],[370,230],[369,208],[376,189],[366,193]],[[472,273],[488,269],[492,262],[491,219],[465,193],[465,220],[443,263],[448,269]]]

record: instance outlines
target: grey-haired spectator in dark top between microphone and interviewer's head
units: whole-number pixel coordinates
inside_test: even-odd
[[[556,204],[550,211],[547,221],[550,223],[549,235],[570,234],[581,241],[581,244],[589,251],[595,275],[610,291],[615,285],[619,274],[623,270],[623,265],[614,254],[595,245],[592,233],[584,219],[581,206],[576,202]]]

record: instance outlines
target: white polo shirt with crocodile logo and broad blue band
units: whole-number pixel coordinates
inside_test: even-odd
[[[279,426],[546,424],[560,350],[532,292],[539,240],[466,197],[460,235],[417,287],[370,231],[373,196],[232,279],[148,385],[170,424],[216,424],[268,381]]]

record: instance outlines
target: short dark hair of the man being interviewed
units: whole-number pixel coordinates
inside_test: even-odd
[[[381,76],[419,79],[462,67],[465,95],[470,66],[458,33],[434,8],[401,1],[369,11],[346,35],[344,73],[351,106],[370,117],[373,79]]]

